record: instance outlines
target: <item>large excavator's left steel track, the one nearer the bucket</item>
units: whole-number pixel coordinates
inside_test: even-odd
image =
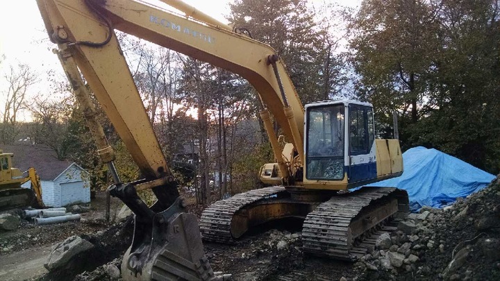
[[[233,237],[231,233],[231,222],[238,211],[247,205],[268,198],[278,198],[286,193],[285,187],[265,187],[236,194],[231,198],[213,203],[201,214],[199,225],[203,240],[219,243],[233,242],[233,239],[238,237]]]

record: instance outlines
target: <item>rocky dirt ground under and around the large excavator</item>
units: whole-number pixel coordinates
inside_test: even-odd
[[[199,216],[203,208],[194,200],[188,203],[190,212]],[[131,243],[132,221],[107,223],[104,204],[104,194],[98,194],[91,211],[82,214],[83,221],[42,226],[24,221],[15,232],[0,232],[0,280],[121,280],[110,269],[119,274],[121,257]],[[112,205],[113,217],[121,203],[113,199]],[[421,214],[408,219],[415,230],[392,233],[390,248],[376,248],[356,263],[304,254],[300,219],[261,225],[232,245],[203,246],[213,270],[232,274],[235,281],[499,280],[500,180],[448,210],[422,212],[426,219],[415,219]],[[43,264],[51,245],[72,235],[91,241],[95,249],[76,257],[62,272],[47,273]],[[392,257],[403,253],[399,250],[406,244],[411,248],[404,263],[401,259],[402,265],[394,265]],[[414,262],[408,262],[410,255],[416,257]]]

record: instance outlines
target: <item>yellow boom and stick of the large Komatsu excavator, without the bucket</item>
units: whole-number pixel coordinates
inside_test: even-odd
[[[240,74],[256,88],[265,108],[302,153],[303,106],[270,46],[131,0],[38,0],[38,6],[51,39],[72,45],[78,68],[145,176],[158,177],[158,169],[168,168],[152,130],[144,128],[147,115],[134,107],[141,104],[140,96],[113,28]],[[276,153],[281,155],[281,150]]]

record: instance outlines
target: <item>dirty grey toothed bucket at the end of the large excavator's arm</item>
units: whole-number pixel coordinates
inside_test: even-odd
[[[172,183],[176,190],[176,185]],[[172,189],[156,188],[161,193]],[[135,185],[112,185],[110,194],[117,196],[134,212],[135,225],[132,244],[122,261],[124,280],[227,280],[231,275],[216,276],[208,262],[198,220],[188,214],[182,198],[165,210],[160,199],[148,207]]]

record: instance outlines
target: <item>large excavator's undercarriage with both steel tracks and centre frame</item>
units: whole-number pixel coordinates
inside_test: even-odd
[[[374,245],[372,235],[394,230],[386,224],[395,214],[409,210],[406,191],[392,187],[363,187],[324,202],[295,198],[294,191],[265,187],[217,201],[201,215],[203,240],[231,243],[252,226],[299,217],[304,252],[353,261]]]

